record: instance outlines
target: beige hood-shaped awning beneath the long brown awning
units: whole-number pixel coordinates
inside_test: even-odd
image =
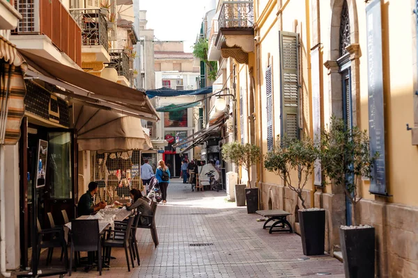
[[[76,104],[73,108],[80,151],[125,152],[148,145],[137,117]]]

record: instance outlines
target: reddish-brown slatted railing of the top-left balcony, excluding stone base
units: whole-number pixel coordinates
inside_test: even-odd
[[[60,0],[13,2],[22,15],[13,35],[46,35],[77,65],[82,65],[82,31]]]

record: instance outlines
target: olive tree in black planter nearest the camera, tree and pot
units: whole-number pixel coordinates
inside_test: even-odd
[[[352,226],[340,227],[340,243],[346,277],[374,277],[375,229],[357,226],[356,207],[359,182],[372,179],[371,170],[379,154],[370,153],[369,136],[357,126],[348,129],[346,123],[331,118],[330,128],[321,132],[321,167],[334,186],[341,186],[353,206]]]

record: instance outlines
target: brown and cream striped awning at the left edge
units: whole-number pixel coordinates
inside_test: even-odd
[[[0,35],[0,145],[15,145],[19,141],[26,69],[26,62],[15,45]]]

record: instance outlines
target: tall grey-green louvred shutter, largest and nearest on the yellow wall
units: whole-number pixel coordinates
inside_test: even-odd
[[[299,138],[299,34],[279,32],[281,136]]]

